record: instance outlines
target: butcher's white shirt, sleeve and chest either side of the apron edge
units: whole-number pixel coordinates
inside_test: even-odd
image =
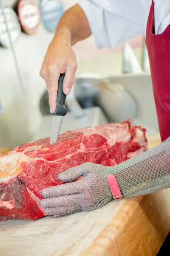
[[[98,48],[146,34],[152,0],[79,0]],[[154,0],[155,34],[170,24],[170,0]]]

